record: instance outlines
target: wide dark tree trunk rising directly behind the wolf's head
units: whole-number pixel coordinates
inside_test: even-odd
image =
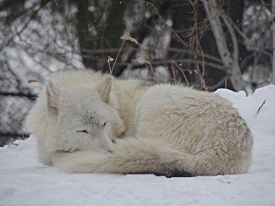
[[[76,14],[78,41],[80,45],[81,56],[85,67],[96,71],[109,71],[107,57],[115,58],[117,54],[113,52],[96,52],[98,49],[119,48],[122,44],[120,36],[124,33],[124,12],[130,1],[107,1],[103,8],[99,1],[94,0],[97,12],[102,14],[98,16],[96,12],[90,11],[91,1],[76,1],[78,12]],[[106,16],[104,16],[104,15]],[[93,51],[93,52],[91,52]],[[115,55],[115,56],[114,56]],[[114,76],[122,73],[125,67],[115,66]]]

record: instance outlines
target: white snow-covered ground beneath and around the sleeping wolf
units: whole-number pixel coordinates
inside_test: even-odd
[[[275,86],[248,97],[243,91],[216,93],[239,108],[254,135],[248,174],[67,174],[41,165],[30,137],[0,148],[0,205],[275,205]]]

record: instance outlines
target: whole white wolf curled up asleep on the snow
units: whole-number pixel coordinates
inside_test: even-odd
[[[51,78],[26,123],[41,161],[68,172],[241,174],[252,158],[248,127],[219,95],[91,71]]]

